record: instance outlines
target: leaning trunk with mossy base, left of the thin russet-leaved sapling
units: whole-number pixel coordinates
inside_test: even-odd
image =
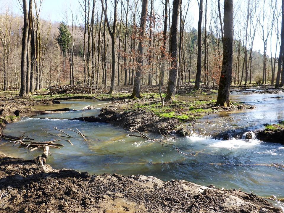
[[[137,70],[134,78],[134,86],[132,95],[130,98],[141,98],[141,76],[143,72],[143,40],[145,34],[145,25],[147,19],[147,9],[148,9],[148,0],[142,1],[142,10],[141,10],[141,19],[140,19],[140,30],[139,30],[139,44],[138,44],[138,60],[137,60]]]

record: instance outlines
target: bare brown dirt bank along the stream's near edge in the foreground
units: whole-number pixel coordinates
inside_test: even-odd
[[[0,153],[0,212],[282,212],[236,190],[142,175],[39,172],[33,161]]]

